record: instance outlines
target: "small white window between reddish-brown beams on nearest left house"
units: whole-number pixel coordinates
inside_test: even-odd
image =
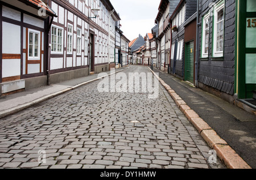
[[[40,59],[40,32],[28,30],[28,59]]]

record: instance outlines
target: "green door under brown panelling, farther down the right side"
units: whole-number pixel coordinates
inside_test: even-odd
[[[194,41],[185,45],[185,80],[194,83]]]

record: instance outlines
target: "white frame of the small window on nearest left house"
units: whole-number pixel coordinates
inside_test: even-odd
[[[33,34],[33,40],[32,40],[32,56],[30,56],[30,33]],[[38,56],[35,57],[35,34],[38,35]],[[35,31],[34,29],[28,29],[28,60],[39,60],[40,59],[40,46],[41,46],[41,32]]]

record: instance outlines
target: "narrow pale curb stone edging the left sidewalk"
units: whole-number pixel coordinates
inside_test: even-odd
[[[14,108],[10,108],[10,109],[7,109],[7,110],[4,110],[0,113],[0,118],[4,118],[8,115],[11,115],[11,114],[15,114],[15,113],[18,113],[24,109],[27,109],[27,108],[30,108],[31,106],[34,106],[36,104],[39,104],[40,102],[43,102],[43,101],[46,101],[46,100],[49,100],[50,98],[53,98],[53,97],[56,97],[56,96],[59,96],[59,95],[62,95],[63,93],[65,92],[69,92],[69,91],[72,91],[76,88],[79,88],[83,85],[86,85],[86,84],[89,84],[89,83],[92,83],[92,82],[96,82],[97,80],[100,80],[102,78],[105,78],[107,76],[110,76],[110,75],[113,75],[113,74],[117,74],[118,72],[121,72],[121,71],[124,71],[124,70],[127,70],[128,68],[130,67],[127,67],[127,68],[124,68],[123,70],[120,70],[120,71],[116,71],[116,72],[113,72],[112,74],[108,74],[108,75],[105,75],[105,76],[102,76],[100,78],[96,78],[96,79],[93,79],[93,80],[89,80],[88,82],[84,82],[84,83],[80,83],[80,84],[77,84],[73,87],[69,87],[69,88],[66,88],[66,89],[63,89],[61,91],[58,91],[58,92],[55,92],[55,93],[52,93],[51,95],[47,95],[47,96],[44,96],[44,97],[40,97],[34,101],[31,101],[31,102],[27,102],[26,104],[23,104],[23,105],[19,105],[19,106],[16,106]]]

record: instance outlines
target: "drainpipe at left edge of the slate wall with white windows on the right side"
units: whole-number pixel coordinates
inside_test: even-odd
[[[196,61],[195,61],[195,86],[198,88],[198,61],[199,61],[199,0],[197,0],[196,14]]]

